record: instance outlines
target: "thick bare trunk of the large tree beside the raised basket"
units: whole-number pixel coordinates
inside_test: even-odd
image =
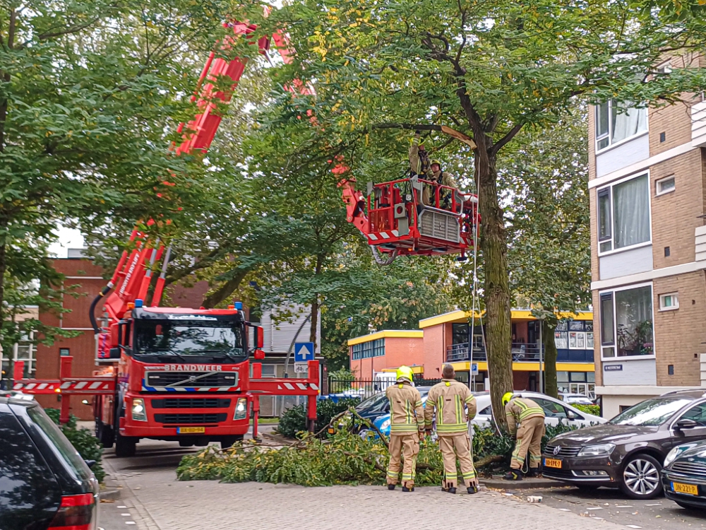
[[[489,154],[486,146],[479,146],[475,164],[479,180],[480,244],[485,274],[486,351],[491,402],[496,421],[505,427],[507,421],[502,412],[503,394],[513,390],[508,244],[503,210],[498,202],[496,158]]]

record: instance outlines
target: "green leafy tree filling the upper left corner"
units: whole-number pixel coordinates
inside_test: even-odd
[[[28,286],[59,281],[46,261],[58,225],[99,230],[109,254],[139,219],[163,220],[151,230],[171,233],[195,222],[186,206],[213,195],[215,177],[195,157],[172,155],[179,136],[166,131],[196,112],[185,96],[229,31],[219,23],[229,12],[217,0],[0,3],[5,348],[25,303],[18,293],[32,298]]]

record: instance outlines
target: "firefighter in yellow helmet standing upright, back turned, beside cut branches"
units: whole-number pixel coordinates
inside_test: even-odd
[[[412,368],[397,368],[397,380],[385,391],[390,400],[390,463],[388,464],[388,490],[394,490],[400,480],[400,457],[402,467],[402,491],[414,491],[419,438],[424,437],[424,408],[421,406],[419,390],[412,384]]]

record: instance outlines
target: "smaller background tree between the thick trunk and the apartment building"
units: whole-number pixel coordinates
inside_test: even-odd
[[[549,131],[525,131],[498,171],[508,223],[513,292],[541,319],[544,391],[557,396],[559,313],[591,303],[587,128],[579,107]]]

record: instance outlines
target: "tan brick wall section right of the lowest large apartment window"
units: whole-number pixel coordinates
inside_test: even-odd
[[[654,280],[657,384],[700,386],[699,354],[706,353],[706,276],[696,271]],[[659,311],[659,295],[678,292],[679,309]],[[674,365],[674,375],[668,366]]]

